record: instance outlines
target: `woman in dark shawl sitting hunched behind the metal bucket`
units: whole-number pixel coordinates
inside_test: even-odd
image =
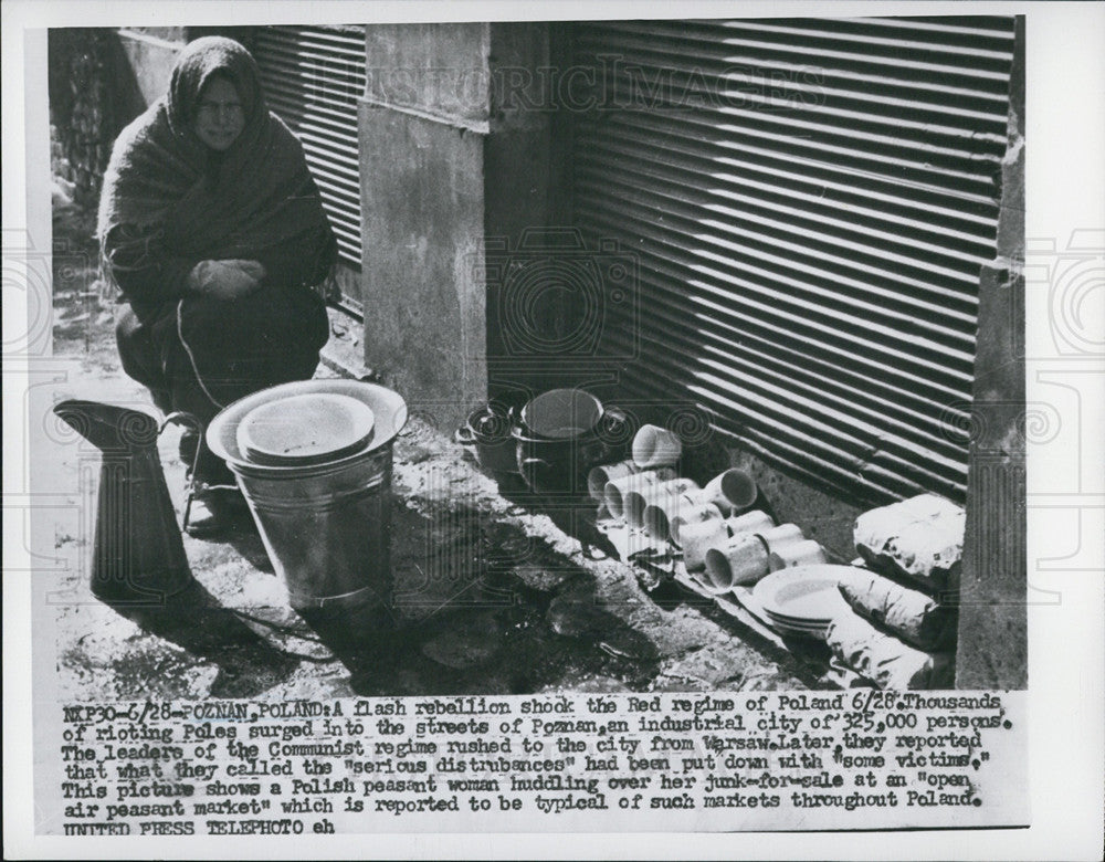
[[[104,271],[125,305],[124,370],[206,427],[259,389],[311,378],[329,327],[314,285],[337,248],[303,149],[266,107],[250,53],[209,36],[118,140],[104,178]],[[190,532],[221,526],[232,476],[202,435]]]

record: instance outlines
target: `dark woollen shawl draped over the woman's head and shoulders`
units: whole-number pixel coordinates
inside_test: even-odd
[[[245,112],[241,135],[221,154],[192,130],[200,94],[217,74],[233,82]],[[185,46],[168,92],[115,141],[101,242],[119,224],[156,228],[168,252],[202,259],[250,257],[328,230],[303,148],[265,106],[257,65],[238,42],[206,36]]]

